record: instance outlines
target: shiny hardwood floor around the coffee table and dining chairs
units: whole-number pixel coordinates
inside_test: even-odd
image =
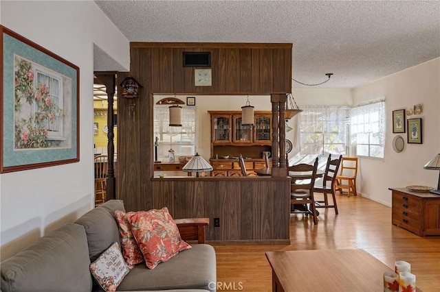
[[[311,217],[291,215],[290,245],[214,245],[217,291],[272,291],[267,251],[342,248],[362,248],[391,268],[395,260],[405,260],[417,277],[418,291],[440,291],[440,236],[422,238],[393,226],[391,208],[360,195],[336,197],[339,215],[319,209],[317,226]]]

